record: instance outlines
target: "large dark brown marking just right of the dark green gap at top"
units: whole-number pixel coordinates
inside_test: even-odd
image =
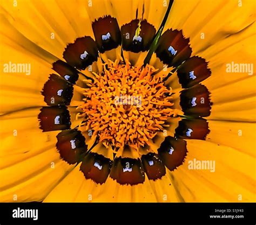
[[[192,53],[190,39],[185,39],[182,31],[167,30],[159,38],[157,57],[168,66],[179,66],[190,58]]]

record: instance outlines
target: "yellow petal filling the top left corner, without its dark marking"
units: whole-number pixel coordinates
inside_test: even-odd
[[[91,35],[91,26],[84,1],[70,4],[69,1],[4,1],[2,11],[11,26],[26,38],[62,58],[66,44],[78,36]],[[2,30],[2,29],[1,29]],[[83,32],[82,32],[83,31]]]

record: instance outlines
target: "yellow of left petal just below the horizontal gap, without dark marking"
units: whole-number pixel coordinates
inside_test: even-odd
[[[20,163],[55,147],[60,131],[43,132],[39,129],[39,112],[40,108],[35,108],[1,116],[0,168]],[[78,123],[76,112],[70,110],[70,116],[71,128],[74,128]]]

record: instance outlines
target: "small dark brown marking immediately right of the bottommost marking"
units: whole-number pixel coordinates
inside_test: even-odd
[[[154,153],[144,154],[142,164],[150,180],[157,180],[165,175],[165,165]]]

